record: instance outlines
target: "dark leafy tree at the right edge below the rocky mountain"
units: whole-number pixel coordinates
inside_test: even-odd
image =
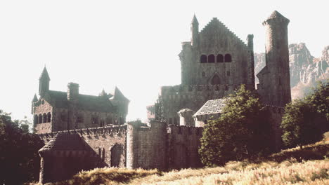
[[[286,105],[281,123],[283,143],[287,147],[302,147],[321,140],[329,129],[328,121],[329,87],[318,83],[314,93]]]

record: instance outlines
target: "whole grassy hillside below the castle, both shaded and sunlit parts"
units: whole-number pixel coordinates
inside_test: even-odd
[[[173,170],[101,168],[83,171],[62,184],[329,184],[329,137],[257,160],[232,161],[224,167]],[[49,184],[50,185],[50,184]]]

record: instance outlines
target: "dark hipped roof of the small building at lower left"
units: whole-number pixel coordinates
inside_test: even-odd
[[[58,133],[40,151],[89,151],[90,146],[78,134]]]

